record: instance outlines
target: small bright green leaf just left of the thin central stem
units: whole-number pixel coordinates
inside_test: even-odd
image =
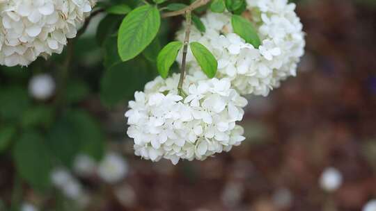
[[[175,62],[176,56],[178,56],[179,50],[182,48],[182,42],[175,41],[167,44],[161,52],[159,52],[157,58],[157,68],[162,78],[167,78],[173,62]]]

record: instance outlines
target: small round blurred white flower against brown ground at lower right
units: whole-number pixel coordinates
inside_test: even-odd
[[[342,174],[333,167],[329,167],[322,172],[320,186],[327,192],[336,191],[342,185]]]

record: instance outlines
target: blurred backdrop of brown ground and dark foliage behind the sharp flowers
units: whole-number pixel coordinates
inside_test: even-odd
[[[295,3],[298,76],[249,97],[247,139],[203,162],[133,155],[127,100],[157,71],[153,51],[116,62],[120,15],[96,16],[61,56],[0,67],[0,210],[375,211],[376,1]]]

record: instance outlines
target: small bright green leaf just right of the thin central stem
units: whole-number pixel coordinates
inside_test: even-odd
[[[207,77],[213,78],[217,74],[218,62],[203,44],[191,42],[191,51]]]

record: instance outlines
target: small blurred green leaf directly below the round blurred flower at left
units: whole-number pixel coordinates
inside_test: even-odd
[[[47,105],[37,105],[26,110],[22,116],[22,127],[47,126],[54,119],[54,109]]]

